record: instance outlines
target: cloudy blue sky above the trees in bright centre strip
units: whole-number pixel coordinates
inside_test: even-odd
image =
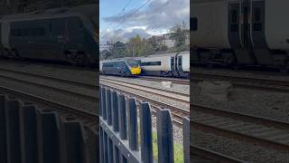
[[[166,34],[190,20],[190,0],[100,0],[99,7],[100,43]]]

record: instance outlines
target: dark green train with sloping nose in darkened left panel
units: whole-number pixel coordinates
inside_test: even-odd
[[[0,56],[98,64],[98,5],[1,17]]]

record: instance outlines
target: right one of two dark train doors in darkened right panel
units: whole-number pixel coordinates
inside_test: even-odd
[[[250,33],[256,61],[260,65],[274,65],[274,58],[266,43],[266,11],[265,0],[250,0]]]

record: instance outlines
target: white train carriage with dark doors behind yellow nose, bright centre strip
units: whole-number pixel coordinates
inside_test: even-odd
[[[142,75],[188,77],[190,52],[155,54],[136,58],[140,62]]]

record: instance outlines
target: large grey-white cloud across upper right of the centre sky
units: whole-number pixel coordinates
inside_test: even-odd
[[[124,15],[104,17],[107,23],[118,24],[126,20],[126,26],[146,26],[147,29],[168,28],[172,24],[189,22],[190,1],[189,0],[153,0],[146,5],[144,10],[128,11]],[[133,14],[133,15],[132,15]]]

